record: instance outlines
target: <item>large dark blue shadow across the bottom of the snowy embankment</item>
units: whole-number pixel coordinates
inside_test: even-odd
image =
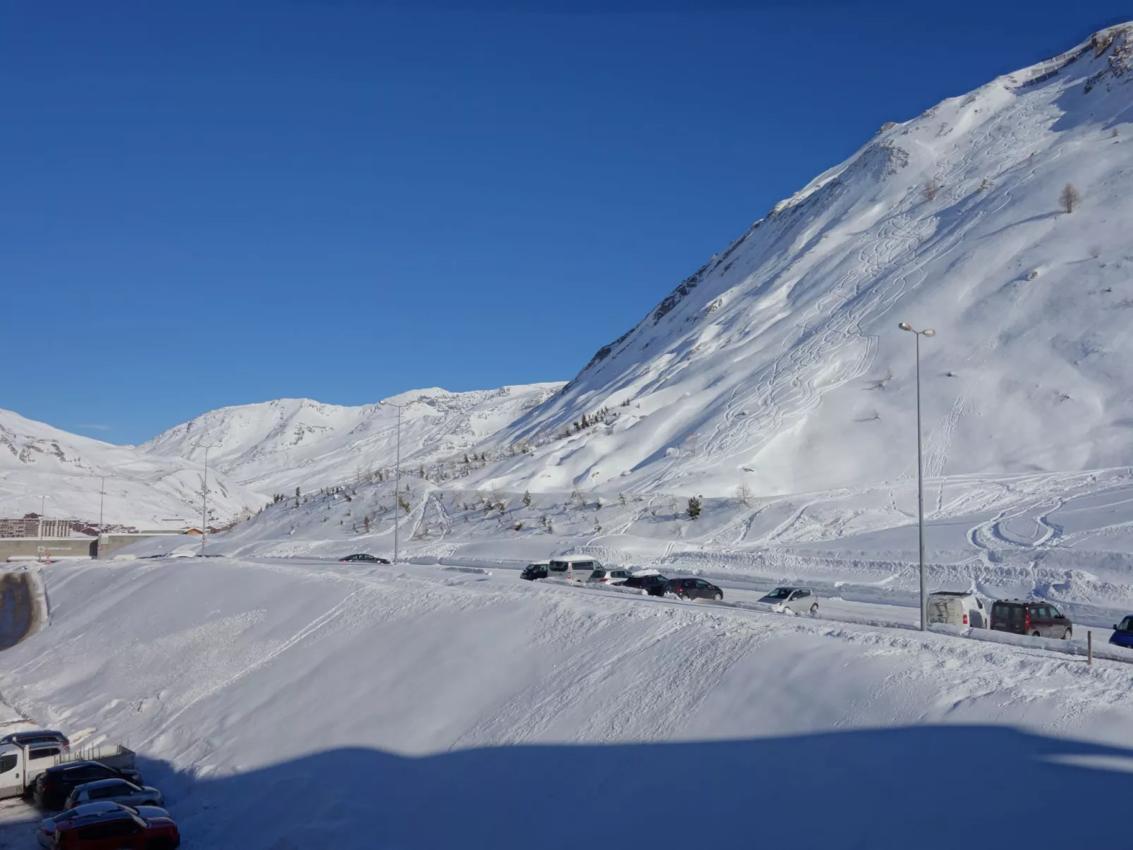
[[[211,850],[954,850],[1013,842],[1036,821],[1060,843],[1102,847],[1126,838],[1133,791],[1133,750],[1008,726],[419,758],[334,749],[218,777],[140,766],[185,847]]]

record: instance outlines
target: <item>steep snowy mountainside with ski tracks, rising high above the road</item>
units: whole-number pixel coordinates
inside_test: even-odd
[[[887,125],[492,437],[538,448],[479,479],[731,495],[908,478],[901,321],[938,331],[921,345],[929,475],[1128,465],[1131,32]]]

